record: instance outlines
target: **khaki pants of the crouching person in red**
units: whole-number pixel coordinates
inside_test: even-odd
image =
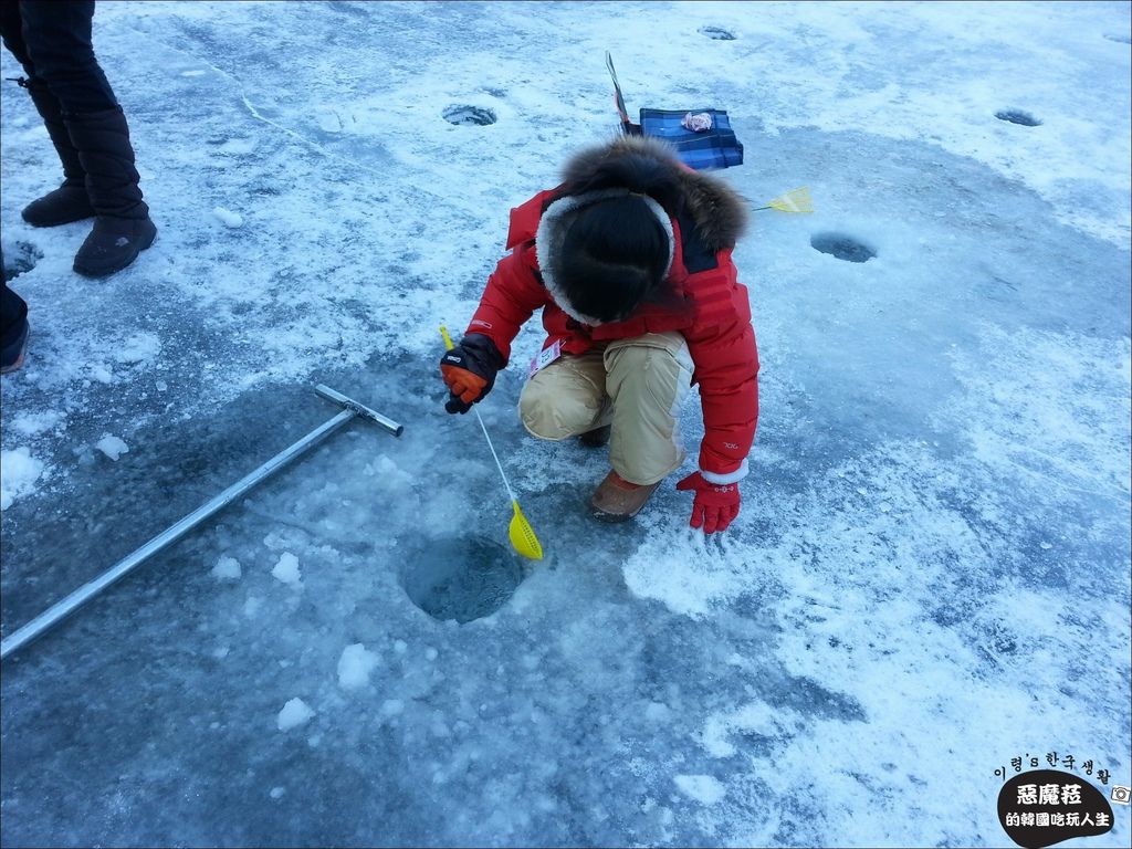
[[[518,398],[520,417],[531,436],[554,441],[612,424],[614,470],[632,483],[655,483],[686,456],[678,415],[692,370],[679,333],[617,340],[537,372]]]

